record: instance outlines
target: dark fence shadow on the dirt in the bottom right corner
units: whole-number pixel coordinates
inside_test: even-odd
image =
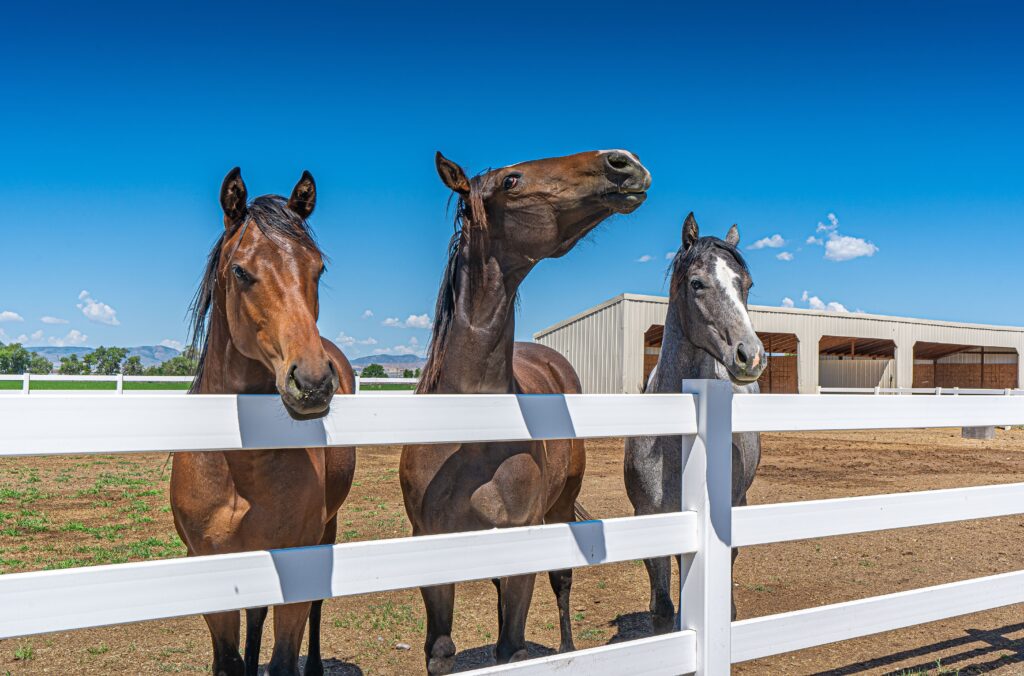
[[[997,629],[968,629],[965,636],[938,641],[929,645],[900,650],[890,654],[856,662],[838,669],[830,669],[814,674],[814,676],[847,676],[849,674],[861,674],[866,671],[873,671],[896,663],[918,659],[919,662],[910,666],[900,667],[892,671],[885,672],[886,676],[905,676],[907,674],[958,674],[968,676],[969,674],[987,674],[1001,667],[1009,667],[1015,664],[1024,663],[1024,638],[1010,638],[1008,634],[1024,631],[1024,623],[1007,625]],[[970,647],[972,643],[981,643],[976,647]],[[953,649],[968,648],[954,654],[941,657],[935,656],[937,652]],[[998,654],[993,654],[998,653]],[[958,665],[969,660],[991,657],[993,659],[986,662],[972,662],[972,664],[959,667]]]

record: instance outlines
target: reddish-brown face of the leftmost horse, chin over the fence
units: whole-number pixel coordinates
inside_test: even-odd
[[[316,328],[324,258],[308,237],[268,236],[276,231],[272,224],[254,222],[293,219],[285,231],[304,234],[302,221],[313,211],[316,186],[305,172],[287,203],[270,197],[247,205],[246,195],[233,169],[220,193],[228,236],[217,271],[231,342],[274,374],[293,418],[318,418],[338,389],[338,372]]]

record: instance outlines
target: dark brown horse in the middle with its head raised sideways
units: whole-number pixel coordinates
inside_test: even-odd
[[[579,392],[580,380],[554,350],[515,343],[516,293],[544,258],[565,255],[598,223],[646,198],[650,174],[631,153],[600,151],[538,160],[473,179],[436,157],[459,198],[430,353],[419,393]],[[415,535],[573,520],[586,466],[581,440],[408,446],[399,477]],[[495,580],[499,663],[526,658],[534,575]],[[558,602],[560,650],[573,649],[571,571],[549,574]],[[427,608],[427,671],[455,666],[455,586],[420,590]]]

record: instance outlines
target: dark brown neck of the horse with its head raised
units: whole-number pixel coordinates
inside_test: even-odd
[[[513,392],[515,296],[526,271],[503,269],[499,259],[488,255],[482,261],[472,262],[463,257],[457,273],[458,292],[452,325],[444,345],[438,346],[430,356],[436,363],[428,369],[437,369],[436,385],[430,391]]]

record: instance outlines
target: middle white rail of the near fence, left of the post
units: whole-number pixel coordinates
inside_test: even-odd
[[[0,576],[0,638],[693,551],[679,512]],[[168,590],[174,593],[169,594]]]

